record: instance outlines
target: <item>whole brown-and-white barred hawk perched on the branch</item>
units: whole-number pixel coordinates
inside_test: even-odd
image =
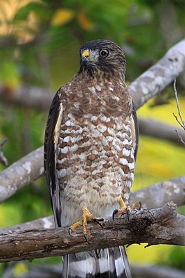
[[[82,224],[87,240],[88,220],[109,217],[118,203],[114,215],[130,211],[138,123],[125,65],[114,42],[86,42],[80,70],[56,93],[46,124],[44,166],[55,226]],[[131,277],[121,246],[64,256],[62,275]]]

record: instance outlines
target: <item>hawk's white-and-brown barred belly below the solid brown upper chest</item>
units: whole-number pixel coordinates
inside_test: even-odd
[[[118,197],[127,201],[134,179],[134,149],[129,130],[88,124],[65,133],[58,145],[57,172],[62,225],[81,219],[82,206],[97,218],[112,215]],[[123,125],[121,126],[123,129]]]

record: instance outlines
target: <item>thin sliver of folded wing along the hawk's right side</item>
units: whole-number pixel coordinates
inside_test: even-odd
[[[132,101],[132,140],[134,142],[134,158],[136,161],[136,155],[138,151],[139,145],[139,124],[136,116],[136,109],[134,107],[134,102]]]

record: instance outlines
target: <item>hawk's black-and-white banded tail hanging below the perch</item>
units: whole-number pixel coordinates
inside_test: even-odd
[[[123,246],[64,256],[62,278],[132,278]]]

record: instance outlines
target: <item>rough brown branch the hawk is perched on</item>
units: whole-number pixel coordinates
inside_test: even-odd
[[[0,236],[0,262],[35,259],[47,256],[62,256],[74,252],[96,250],[132,243],[148,245],[185,245],[184,216],[177,215],[173,202],[153,210],[132,211],[127,216],[107,218],[103,229],[89,224],[90,245],[78,230],[69,236],[67,228],[9,232]]]

